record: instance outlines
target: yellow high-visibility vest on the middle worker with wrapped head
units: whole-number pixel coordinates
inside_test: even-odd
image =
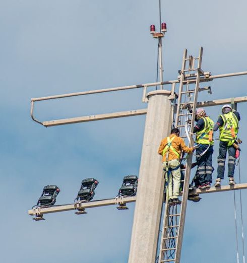
[[[203,117],[204,128],[196,133],[196,143],[197,144],[207,144],[213,145],[213,128],[214,122],[209,117]]]

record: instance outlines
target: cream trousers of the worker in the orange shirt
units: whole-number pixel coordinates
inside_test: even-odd
[[[166,162],[163,162],[163,167],[164,170],[168,168],[167,177],[169,199],[178,198],[181,180],[180,162],[179,160],[171,160],[168,162],[168,167],[166,167]]]

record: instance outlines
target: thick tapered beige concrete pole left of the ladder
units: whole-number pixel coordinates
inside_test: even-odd
[[[167,90],[156,90],[147,94],[149,102],[129,263],[155,262],[164,195],[162,158],[157,151],[161,140],[170,134],[170,94]]]

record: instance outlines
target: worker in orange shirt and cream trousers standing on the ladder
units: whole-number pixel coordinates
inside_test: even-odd
[[[168,204],[181,204],[178,199],[181,180],[180,157],[181,153],[192,153],[194,148],[186,146],[182,138],[179,137],[179,129],[173,128],[171,135],[164,138],[158,149],[158,154],[162,155],[163,168],[166,171],[168,180]]]

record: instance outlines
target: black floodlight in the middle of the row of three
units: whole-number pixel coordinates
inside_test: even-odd
[[[94,197],[95,194],[94,190],[97,187],[98,183],[99,182],[94,178],[87,178],[82,180],[81,188],[74,202],[91,201]]]

